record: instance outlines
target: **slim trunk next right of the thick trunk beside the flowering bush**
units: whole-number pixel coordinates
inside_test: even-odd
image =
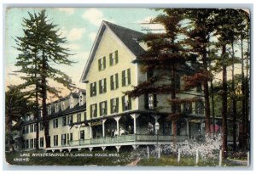
[[[233,109],[233,151],[236,152],[236,89],[235,89],[235,51],[234,42],[231,43],[232,46],[232,109]]]

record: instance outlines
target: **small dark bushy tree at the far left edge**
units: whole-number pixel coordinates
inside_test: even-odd
[[[26,93],[20,93],[19,86],[9,86],[9,90],[5,92],[5,143],[9,149],[13,149],[13,132],[20,131],[21,119],[30,111],[28,103]]]

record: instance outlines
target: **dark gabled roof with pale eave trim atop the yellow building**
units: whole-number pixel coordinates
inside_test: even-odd
[[[102,40],[102,35],[105,31],[105,29],[108,28],[109,30],[113,31],[113,34],[119,37],[119,40],[125,44],[125,47],[128,48],[131,53],[133,53],[136,57],[144,52],[144,49],[139,45],[137,42],[137,39],[140,36],[143,36],[144,34],[139,31],[133,31],[131,29],[125,28],[123,26],[115,25],[113,23],[110,23],[108,21],[102,21],[102,25],[100,26],[100,29],[97,33],[96,40],[93,44],[92,49],[90,50],[90,56],[89,59],[86,62],[86,65],[84,67],[83,74],[80,78],[81,82],[85,81],[85,78],[90,70],[90,65],[93,61],[93,58],[96,54],[96,50],[99,46],[99,43]]]

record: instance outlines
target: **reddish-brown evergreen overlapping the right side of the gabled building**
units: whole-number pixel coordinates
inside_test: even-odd
[[[151,33],[142,36],[139,42],[145,42],[148,49],[137,58],[135,63],[142,65],[142,72],[147,73],[147,81],[143,81],[132,91],[126,92],[130,97],[136,98],[141,95],[171,94],[168,100],[172,112],[169,119],[173,126],[173,141],[177,141],[177,120],[183,116],[178,105],[191,102],[197,98],[177,98],[177,93],[182,93],[178,86],[181,76],[192,73],[186,63],[195,59],[183,46],[183,9],[164,8],[164,14],[158,15],[151,24],[164,25],[164,33]]]

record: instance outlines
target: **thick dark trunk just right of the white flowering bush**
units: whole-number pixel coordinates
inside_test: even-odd
[[[222,46],[222,59],[223,59],[223,94],[222,94],[222,153],[223,158],[227,158],[227,67],[226,67],[226,60],[225,60],[225,54],[226,54],[226,46]]]

